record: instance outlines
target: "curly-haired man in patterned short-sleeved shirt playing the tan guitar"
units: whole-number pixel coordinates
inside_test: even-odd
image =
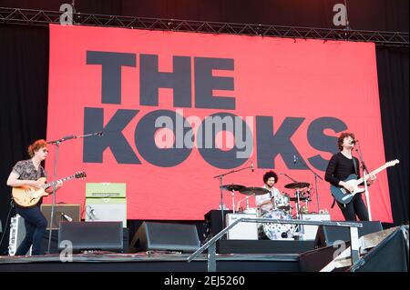
[[[43,139],[36,140],[32,145],[28,146],[28,155],[31,159],[18,161],[8,176],[7,185],[9,186],[33,186],[41,187],[41,184],[36,180],[41,177],[46,177],[46,170],[41,163],[48,155],[46,141]],[[56,185],[56,190],[63,184],[59,182]],[[47,193],[53,192],[53,187],[46,189]],[[43,236],[46,233],[47,220],[40,211],[40,204],[37,203],[32,207],[20,207],[15,205],[15,211],[18,215],[25,219],[26,236],[20,246],[17,248],[15,255],[26,255],[30,246],[33,245],[31,255],[42,255],[41,244]]]

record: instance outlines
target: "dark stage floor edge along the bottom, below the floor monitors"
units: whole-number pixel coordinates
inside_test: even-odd
[[[141,252],[136,254],[75,254],[72,262],[60,255],[0,256],[0,272],[21,271],[90,271],[90,272],[206,272],[207,255],[188,262],[190,254]],[[298,254],[228,254],[217,255],[220,272],[299,272]]]

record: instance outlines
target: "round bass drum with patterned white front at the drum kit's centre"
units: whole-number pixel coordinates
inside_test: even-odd
[[[272,218],[272,219],[284,219],[284,220],[291,220],[292,215],[289,215],[281,210],[272,210],[265,215],[265,218]],[[269,224],[263,223],[261,225],[263,230],[263,234],[266,235],[270,240],[280,240],[280,239],[289,239],[293,238],[293,235],[296,230],[295,225],[286,225],[286,224]]]

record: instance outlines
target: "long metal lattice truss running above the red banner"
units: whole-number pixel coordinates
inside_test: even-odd
[[[60,11],[31,10],[0,7],[0,24],[49,25],[60,24]],[[343,40],[372,42],[375,45],[408,47],[408,32],[385,32],[312,28],[280,25],[251,25],[219,22],[204,22],[176,19],[159,19],[120,15],[95,15],[75,13],[74,25],[123,27],[161,31],[194,32],[223,35],[253,35],[284,38]]]

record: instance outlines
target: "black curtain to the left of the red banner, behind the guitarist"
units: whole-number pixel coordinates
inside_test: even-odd
[[[6,180],[16,161],[29,158],[27,145],[46,138],[47,95],[48,28],[0,25],[0,218],[5,231],[0,255],[8,245],[11,190]]]

